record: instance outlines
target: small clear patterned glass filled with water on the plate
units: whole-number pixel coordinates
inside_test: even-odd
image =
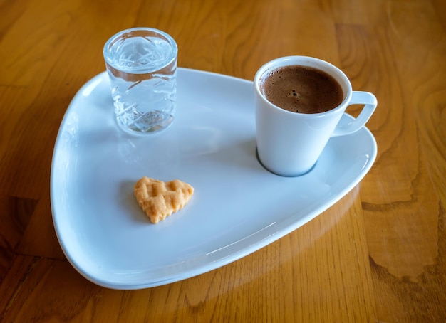
[[[115,117],[127,132],[157,132],[175,115],[176,45],[156,35],[129,35],[106,45],[104,51]]]

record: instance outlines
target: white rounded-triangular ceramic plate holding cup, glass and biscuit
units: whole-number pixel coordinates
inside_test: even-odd
[[[180,68],[177,82],[175,122],[150,137],[118,129],[105,73],[79,90],[63,118],[53,222],[70,263],[98,285],[153,287],[231,263],[332,206],[375,160],[375,139],[363,128],[332,138],[310,173],[276,176],[256,159],[250,81]],[[181,179],[195,194],[154,225],[133,196],[142,176]]]

